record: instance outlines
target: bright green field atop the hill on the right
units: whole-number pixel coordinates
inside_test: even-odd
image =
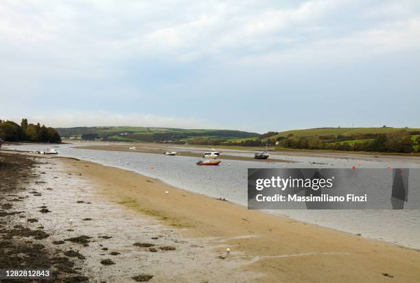
[[[295,137],[314,137],[323,135],[363,135],[363,134],[380,134],[392,133],[395,131],[405,130],[408,132],[420,131],[420,128],[310,128],[305,130],[284,131],[273,135],[270,139],[277,137],[288,137],[293,134]]]

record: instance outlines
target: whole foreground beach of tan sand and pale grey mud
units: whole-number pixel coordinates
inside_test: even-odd
[[[36,214],[36,227],[42,225],[40,230],[49,234],[37,240],[45,253],[76,250],[84,259],[70,258],[75,259],[73,271],[93,282],[134,282],[136,275],[154,276],[150,282],[420,280],[420,252],[415,249],[247,210],[89,161],[36,160],[43,161],[33,168],[30,190],[41,195],[19,192],[28,196],[19,216],[10,214],[16,207],[4,206],[19,194],[3,196],[2,212],[8,215],[1,221],[27,225],[25,218]],[[42,205],[51,212],[38,212]],[[86,238],[88,247],[65,240],[80,236],[91,237]],[[65,248],[54,250],[51,242],[60,240]],[[174,268],[162,268],[168,262]]]

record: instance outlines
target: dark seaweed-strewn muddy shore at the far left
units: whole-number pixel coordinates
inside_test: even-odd
[[[47,207],[29,207],[30,199],[42,197],[36,191],[40,163],[34,157],[0,154],[0,269],[51,269],[55,282],[84,282],[82,258],[74,260],[51,247],[50,234],[38,219]],[[30,208],[43,212],[34,215]]]

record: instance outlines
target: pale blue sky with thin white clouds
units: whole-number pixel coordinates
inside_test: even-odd
[[[420,127],[420,1],[0,1],[0,119]]]

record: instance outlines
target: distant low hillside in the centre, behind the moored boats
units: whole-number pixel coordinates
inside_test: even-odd
[[[183,129],[132,126],[57,128],[62,137],[102,139],[106,141],[182,142],[187,139],[244,139],[258,137],[258,133],[216,129]]]

